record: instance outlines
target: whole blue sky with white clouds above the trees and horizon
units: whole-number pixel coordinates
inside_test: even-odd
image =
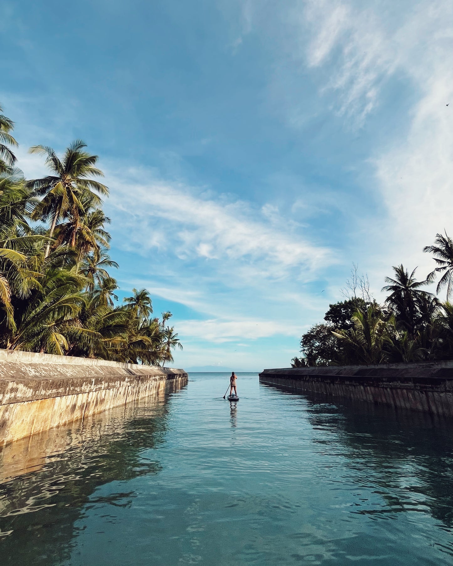
[[[173,312],[178,367],[288,366],[353,261],[379,299],[453,232],[451,1],[22,0],[0,21],[20,166],[75,138],[100,156],[114,275]]]

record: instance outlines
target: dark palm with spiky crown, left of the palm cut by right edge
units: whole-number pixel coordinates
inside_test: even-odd
[[[390,293],[386,298],[386,303],[391,307],[396,315],[396,320],[414,335],[416,326],[420,323],[421,313],[418,307],[421,303],[426,303],[427,299],[433,297],[431,293],[421,290],[421,287],[428,283],[425,281],[417,281],[415,278],[415,268],[411,275],[403,265],[393,267],[395,278],[386,277],[385,281],[388,285],[382,288],[382,291]]]

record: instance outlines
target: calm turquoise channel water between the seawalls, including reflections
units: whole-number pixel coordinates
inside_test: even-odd
[[[451,566],[451,424],[227,385],[6,449],[0,564]]]

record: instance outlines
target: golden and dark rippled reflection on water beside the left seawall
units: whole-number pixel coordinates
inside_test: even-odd
[[[69,559],[82,508],[128,507],[133,491],[91,497],[96,488],[161,470],[143,449],[164,443],[168,407],[160,400],[106,411],[0,452],[1,564],[56,565]],[[88,507],[87,507],[88,504]]]

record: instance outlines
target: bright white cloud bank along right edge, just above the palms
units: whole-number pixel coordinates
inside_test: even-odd
[[[439,71],[426,81],[405,143],[389,148],[375,162],[390,216],[385,241],[394,242],[388,259],[399,257],[425,272],[434,265],[422,247],[444,229],[453,234],[453,114],[446,106],[453,100],[453,72],[447,66]]]

